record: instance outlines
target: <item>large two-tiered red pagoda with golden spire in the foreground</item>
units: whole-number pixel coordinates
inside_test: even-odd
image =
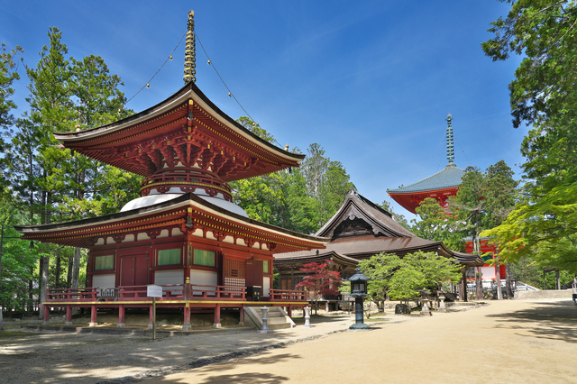
[[[284,151],[243,128],[195,85],[194,22],[189,14],[185,83],[166,100],[115,123],[55,133],[66,148],[138,175],[141,197],[119,213],[76,222],[20,226],[23,239],[88,249],[88,287],[47,288],[43,306],[152,306],[149,284],[162,286],[159,307],[192,311],[306,306],[303,292],[272,289],[273,254],[324,249],[328,239],[247,217],[228,182],[298,167],[304,155]],[[151,311],[152,312],[152,311]],[[44,311],[45,321],[49,310]],[[152,315],[151,315],[152,318]]]

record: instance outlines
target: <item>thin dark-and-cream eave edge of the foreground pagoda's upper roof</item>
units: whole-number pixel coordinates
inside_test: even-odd
[[[240,133],[243,136],[247,137],[248,139],[252,140],[252,142],[261,145],[261,147],[263,147],[268,151],[272,151],[275,154],[278,154],[279,156],[282,156],[290,160],[302,161],[306,157],[306,155],[304,154],[285,151],[284,149],[279,148],[276,145],[273,145],[270,142],[261,139],[261,137],[247,130],[246,128],[243,127],[243,125],[235,122],[232,117],[230,117],[228,114],[225,114],[220,108],[218,108],[212,101],[208,99],[208,97],[206,97],[206,95],[200,90],[200,88],[198,88],[197,85],[192,82],[188,83],[184,87],[181,87],[177,92],[175,92],[173,95],[169,96],[165,100],[162,100],[157,105],[153,105],[150,108],[145,109],[144,111],[138,114],[133,114],[132,116],[125,117],[124,119],[118,120],[114,123],[109,123],[95,128],[90,128],[85,131],[71,132],[71,133],[54,133],[54,137],[60,140],[60,142],[65,143],[66,142],[78,143],[83,142],[85,140],[95,139],[98,138],[99,136],[103,136],[105,134],[114,133],[116,131],[122,130],[136,123],[145,122],[151,119],[151,117],[167,112],[175,105],[180,105],[187,99],[193,99],[195,102],[199,103],[200,105],[203,105],[203,107],[208,109],[211,113],[221,117],[222,122],[227,124],[230,128],[234,129],[237,133]]]

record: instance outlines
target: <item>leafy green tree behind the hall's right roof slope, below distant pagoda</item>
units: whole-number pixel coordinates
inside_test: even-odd
[[[445,212],[435,198],[426,197],[415,211],[419,220],[411,220],[413,233],[427,240],[444,242],[453,251],[464,251],[460,222]]]

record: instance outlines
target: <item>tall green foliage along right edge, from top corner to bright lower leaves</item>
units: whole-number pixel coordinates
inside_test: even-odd
[[[499,258],[531,258],[540,267],[577,271],[577,32],[573,2],[510,2],[482,44],[494,60],[525,55],[509,84],[514,126],[533,124],[521,152],[527,183],[508,218],[483,233],[500,244]]]

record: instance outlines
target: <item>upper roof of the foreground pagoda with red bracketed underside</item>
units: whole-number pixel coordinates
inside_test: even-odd
[[[225,182],[298,167],[305,158],[235,122],[192,82],[141,113],[54,136],[66,148],[145,177],[162,168],[160,153],[175,162],[188,162],[189,167],[197,159],[199,163],[207,159],[206,168],[218,163],[219,169],[213,172]]]

